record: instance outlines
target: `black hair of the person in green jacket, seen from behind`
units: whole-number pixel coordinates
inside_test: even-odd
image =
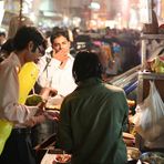
[[[88,51],[79,52],[73,63],[72,74],[76,83],[89,78],[102,79],[102,64],[99,55]]]

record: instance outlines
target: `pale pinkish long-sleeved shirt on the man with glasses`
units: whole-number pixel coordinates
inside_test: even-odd
[[[19,104],[18,68],[21,68],[16,53],[11,53],[0,64],[0,119],[19,123],[30,120],[38,111],[37,106]]]

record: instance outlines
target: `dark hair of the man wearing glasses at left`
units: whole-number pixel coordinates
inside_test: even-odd
[[[13,37],[14,50],[23,50],[30,41],[34,44],[33,51],[39,45],[43,45],[44,49],[47,47],[44,37],[37,28],[21,27]]]

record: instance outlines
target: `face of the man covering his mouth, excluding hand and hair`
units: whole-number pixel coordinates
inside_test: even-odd
[[[70,52],[70,42],[65,37],[60,35],[53,40],[52,48],[55,51],[55,53],[58,53],[61,50],[65,50],[64,52],[65,54],[68,54]]]

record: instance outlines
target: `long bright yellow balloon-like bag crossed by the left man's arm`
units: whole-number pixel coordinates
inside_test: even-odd
[[[39,74],[39,69],[33,62],[24,64],[19,73],[20,94],[19,103],[24,104],[29,92],[33,88]],[[7,120],[0,120],[0,155],[6,141],[10,136],[13,124]]]

